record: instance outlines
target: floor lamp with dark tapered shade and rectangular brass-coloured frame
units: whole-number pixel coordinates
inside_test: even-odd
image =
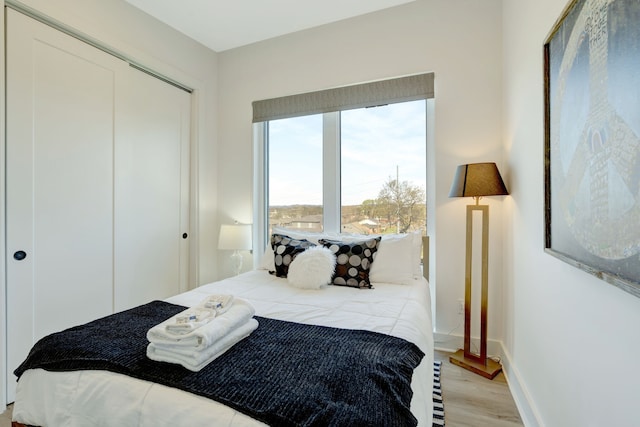
[[[473,197],[475,205],[467,205],[467,246],[464,292],[464,349],[449,358],[450,362],[485,378],[493,379],[502,369],[499,363],[487,359],[487,300],[489,290],[489,205],[479,204],[484,196],[509,194],[495,163],[472,163],[456,169],[449,197]],[[473,243],[473,212],[482,214],[482,258],[480,293],[480,352],[471,351],[471,271]]]

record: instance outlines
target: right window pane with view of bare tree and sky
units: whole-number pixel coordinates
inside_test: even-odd
[[[425,230],[426,101],[340,113],[341,230]]]

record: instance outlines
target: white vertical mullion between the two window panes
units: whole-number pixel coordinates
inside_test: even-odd
[[[323,229],[340,232],[340,112],[323,114]]]

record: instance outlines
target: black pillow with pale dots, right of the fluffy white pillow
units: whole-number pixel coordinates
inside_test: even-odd
[[[381,237],[357,242],[320,239],[336,256],[336,270],[331,283],[352,288],[371,288],[369,269],[380,246]]]

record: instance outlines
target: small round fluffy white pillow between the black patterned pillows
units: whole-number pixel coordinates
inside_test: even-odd
[[[302,289],[320,289],[331,283],[336,256],[323,246],[314,246],[298,254],[289,265],[287,280]]]

